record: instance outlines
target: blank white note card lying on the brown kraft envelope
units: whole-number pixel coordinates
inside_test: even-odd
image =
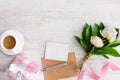
[[[45,59],[67,61],[69,45],[65,43],[47,42]]]

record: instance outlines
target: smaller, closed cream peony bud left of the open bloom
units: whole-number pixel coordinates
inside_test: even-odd
[[[97,48],[101,48],[104,45],[102,39],[98,36],[91,36],[90,42]]]

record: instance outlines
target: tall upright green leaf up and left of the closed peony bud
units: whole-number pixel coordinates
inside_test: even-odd
[[[87,44],[90,43],[91,35],[92,35],[92,27],[91,25],[88,25],[86,23],[83,28],[82,38],[86,41]]]

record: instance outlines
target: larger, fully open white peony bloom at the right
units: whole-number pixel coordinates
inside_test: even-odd
[[[116,40],[117,31],[113,27],[105,27],[101,35],[111,43]]]

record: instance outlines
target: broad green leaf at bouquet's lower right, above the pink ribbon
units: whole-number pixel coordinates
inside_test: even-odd
[[[100,48],[100,50],[108,55],[111,55],[114,57],[120,57],[120,54],[112,47],[105,46],[103,48]]]

